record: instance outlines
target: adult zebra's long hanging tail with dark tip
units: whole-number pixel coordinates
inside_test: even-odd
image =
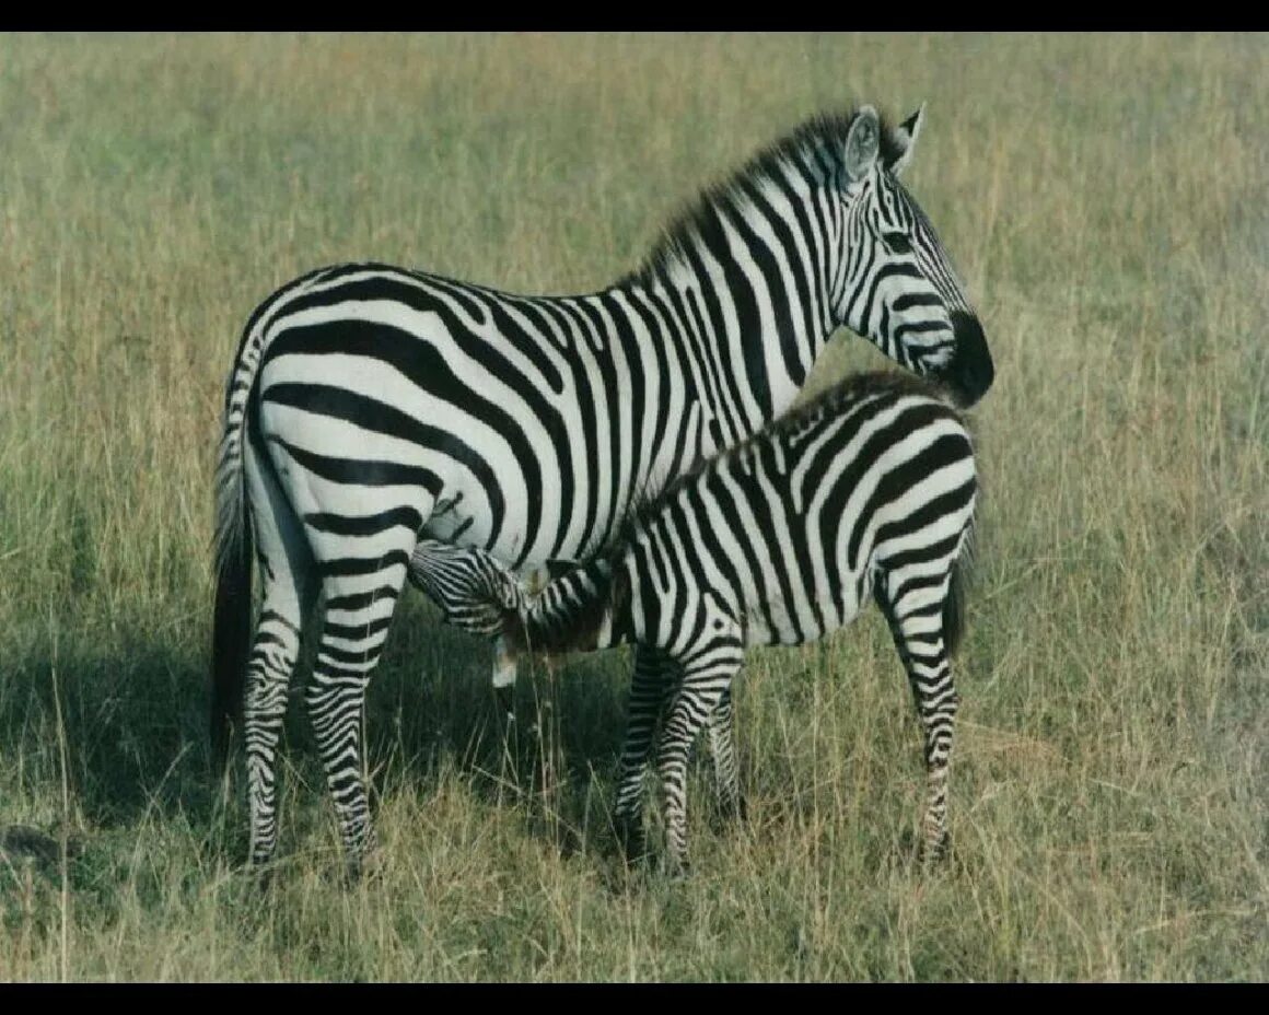
[[[244,346],[246,343],[244,341]],[[211,742],[217,771],[228,760],[230,736],[242,712],[251,651],[251,520],[242,468],[246,406],[255,393],[254,370],[240,353],[231,377],[245,397],[228,398],[216,468],[216,612],[212,622]],[[242,376],[246,383],[240,384]]]

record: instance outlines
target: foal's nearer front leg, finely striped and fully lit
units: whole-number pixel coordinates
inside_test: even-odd
[[[666,870],[688,872],[688,757],[700,727],[717,709],[744,660],[739,638],[720,637],[687,660],[683,683],[661,728],[657,769],[665,807]]]

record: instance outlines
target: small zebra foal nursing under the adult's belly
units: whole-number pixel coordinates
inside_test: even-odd
[[[959,565],[978,480],[970,431],[914,377],[848,378],[642,505],[599,557],[527,599],[481,549],[431,546],[433,595],[459,627],[513,651],[634,643],[640,658],[614,815],[642,853],[643,771],[657,713],[667,859],[687,861],[688,752],[708,722],[718,792],[741,809],[731,681],[746,645],[802,645],[872,595],[890,623],[925,732],[925,855],[947,845],[947,773],[961,636]],[[501,615],[501,620],[499,620]]]

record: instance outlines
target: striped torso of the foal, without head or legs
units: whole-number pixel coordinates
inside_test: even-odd
[[[904,374],[858,374],[648,505],[636,582],[665,587],[674,558],[671,584],[708,590],[747,643],[813,641],[877,581],[902,595],[945,579],[976,494],[956,406]]]

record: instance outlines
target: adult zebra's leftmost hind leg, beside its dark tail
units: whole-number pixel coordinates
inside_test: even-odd
[[[317,582],[302,525],[278,483],[254,457],[247,455],[245,466],[264,586],[242,700],[250,858],[260,865],[273,858],[278,842],[278,741]]]

